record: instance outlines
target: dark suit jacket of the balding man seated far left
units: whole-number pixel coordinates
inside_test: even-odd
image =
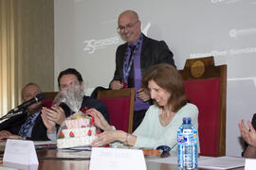
[[[8,120],[0,124],[0,130],[8,130],[10,133],[18,135],[20,128],[23,124],[25,124],[26,120],[27,112],[20,115],[12,116]],[[47,141],[49,139],[47,138],[46,130],[47,129],[44,125],[40,112],[35,120],[34,127],[32,128],[31,137],[27,139],[32,141]]]

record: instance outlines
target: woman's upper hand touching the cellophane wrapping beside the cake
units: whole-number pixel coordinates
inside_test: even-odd
[[[90,109],[87,110],[86,113],[94,117],[95,124],[97,127],[100,127],[104,131],[112,129],[112,127],[107,123],[107,121],[105,120],[104,116],[101,114],[100,111]]]

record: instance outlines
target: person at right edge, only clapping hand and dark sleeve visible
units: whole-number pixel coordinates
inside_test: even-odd
[[[245,127],[245,121],[243,119],[241,123],[238,124],[241,134],[246,142],[242,156],[246,158],[256,158],[256,114],[253,115],[251,122],[247,122],[247,125],[249,130]]]

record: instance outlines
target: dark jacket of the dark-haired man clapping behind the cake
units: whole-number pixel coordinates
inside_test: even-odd
[[[64,110],[65,117],[68,117],[73,113],[73,111],[70,110],[68,106],[65,105],[64,103],[62,103],[60,106]],[[94,108],[95,110],[99,110],[101,114],[104,116],[105,120],[109,122],[109,114],[108,114],[107,106],[103,102],[93,97],[84,95],[82,99],[81,109],[83,109],[84,107],[87,107],[88,110],[91,108]]]

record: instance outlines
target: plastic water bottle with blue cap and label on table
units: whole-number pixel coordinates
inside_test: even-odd
[[[197,130],[192,127],[191,117],[184,117],[177,131],[177,161],[179,170],[197,167]]]

